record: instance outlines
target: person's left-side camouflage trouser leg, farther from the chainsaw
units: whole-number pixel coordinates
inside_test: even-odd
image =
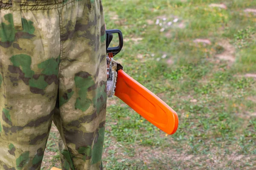
[[[17,31],[13,19],[21,18],[2,5],[0,170],[40,170],[58,90],[59,15],[23,10],[23,31]]]

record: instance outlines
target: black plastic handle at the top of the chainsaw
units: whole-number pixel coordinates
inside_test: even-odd
[[[113,34],[118,34],[119,37],[119,45],[117,47],[108,47],[113,39]],[[119,29],[110,29],[106,30],[106,50],[107,53],[112,53],[113,56],[118,54],[122,50],[123,46],[123,37],[122,32]]]

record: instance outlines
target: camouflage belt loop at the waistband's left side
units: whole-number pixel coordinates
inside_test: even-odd
[[[23,31],[21,22],[20,0],[12,0],[12,17],[15,29]]]

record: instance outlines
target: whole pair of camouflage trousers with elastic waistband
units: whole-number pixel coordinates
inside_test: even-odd
[[[105,48],[101,0],[0,0],[0,170],[40,170],[52,120],[63,170],[102,168]]]

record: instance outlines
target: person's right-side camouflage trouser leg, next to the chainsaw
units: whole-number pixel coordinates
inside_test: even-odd
[[[105,21],[100,0],[60,9],[58,127],[63,170],[100,170],[106,113]]]

